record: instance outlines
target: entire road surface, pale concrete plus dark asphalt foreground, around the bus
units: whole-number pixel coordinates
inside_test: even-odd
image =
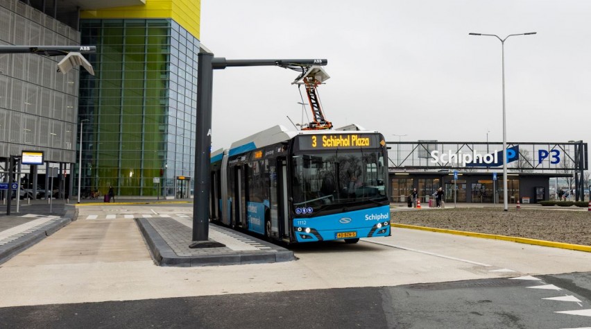
[[[591,327],[591,253],[395,229],[294,262],[156,267],[117,217],[191,207],[80,207],[0,267],[0,328]]]

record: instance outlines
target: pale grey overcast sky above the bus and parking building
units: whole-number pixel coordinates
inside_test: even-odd
[[[227,59],[326,58],[334,126],[386,140],[591,142],[591,1],[202,0],[200,41]],[[212,149],[302,112],[297,72],[214,71]],[[305,94],[304,94],[305,97]]]

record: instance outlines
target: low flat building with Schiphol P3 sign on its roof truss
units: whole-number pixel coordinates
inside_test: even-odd
[[[447,203],[504,203],[502,143],[387,144],[393,202],[405,202],[417,189],[420,201],[428,203],[442,187]],[[583,173],[588,153],[583,141],[507,143],[506,154],[508,203],[554,200],[560,189],[574,189],[571,200],[588,198]],[[559,181],[566,185],[558,185]]]

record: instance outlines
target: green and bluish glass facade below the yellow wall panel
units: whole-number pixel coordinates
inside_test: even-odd
[[[199,41],[172,19],[83,19],[80,32],[97,47],[95,76],[80,76],[82,194],[178,197],[176,177],[194,173]]]

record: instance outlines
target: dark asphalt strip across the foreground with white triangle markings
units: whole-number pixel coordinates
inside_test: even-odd
[[[2,328],[588,328],[589,273],[0,308]],[[575,292],[567,287],[575,287]],[[556,295],[579,300],[556,301]],[[549,297],[552,296],[552,297]],[[586,296],[586,297],[585,297]],[[586,301],[585,301],[586,299]],[[583,305],[585,304],[585,305]]]

